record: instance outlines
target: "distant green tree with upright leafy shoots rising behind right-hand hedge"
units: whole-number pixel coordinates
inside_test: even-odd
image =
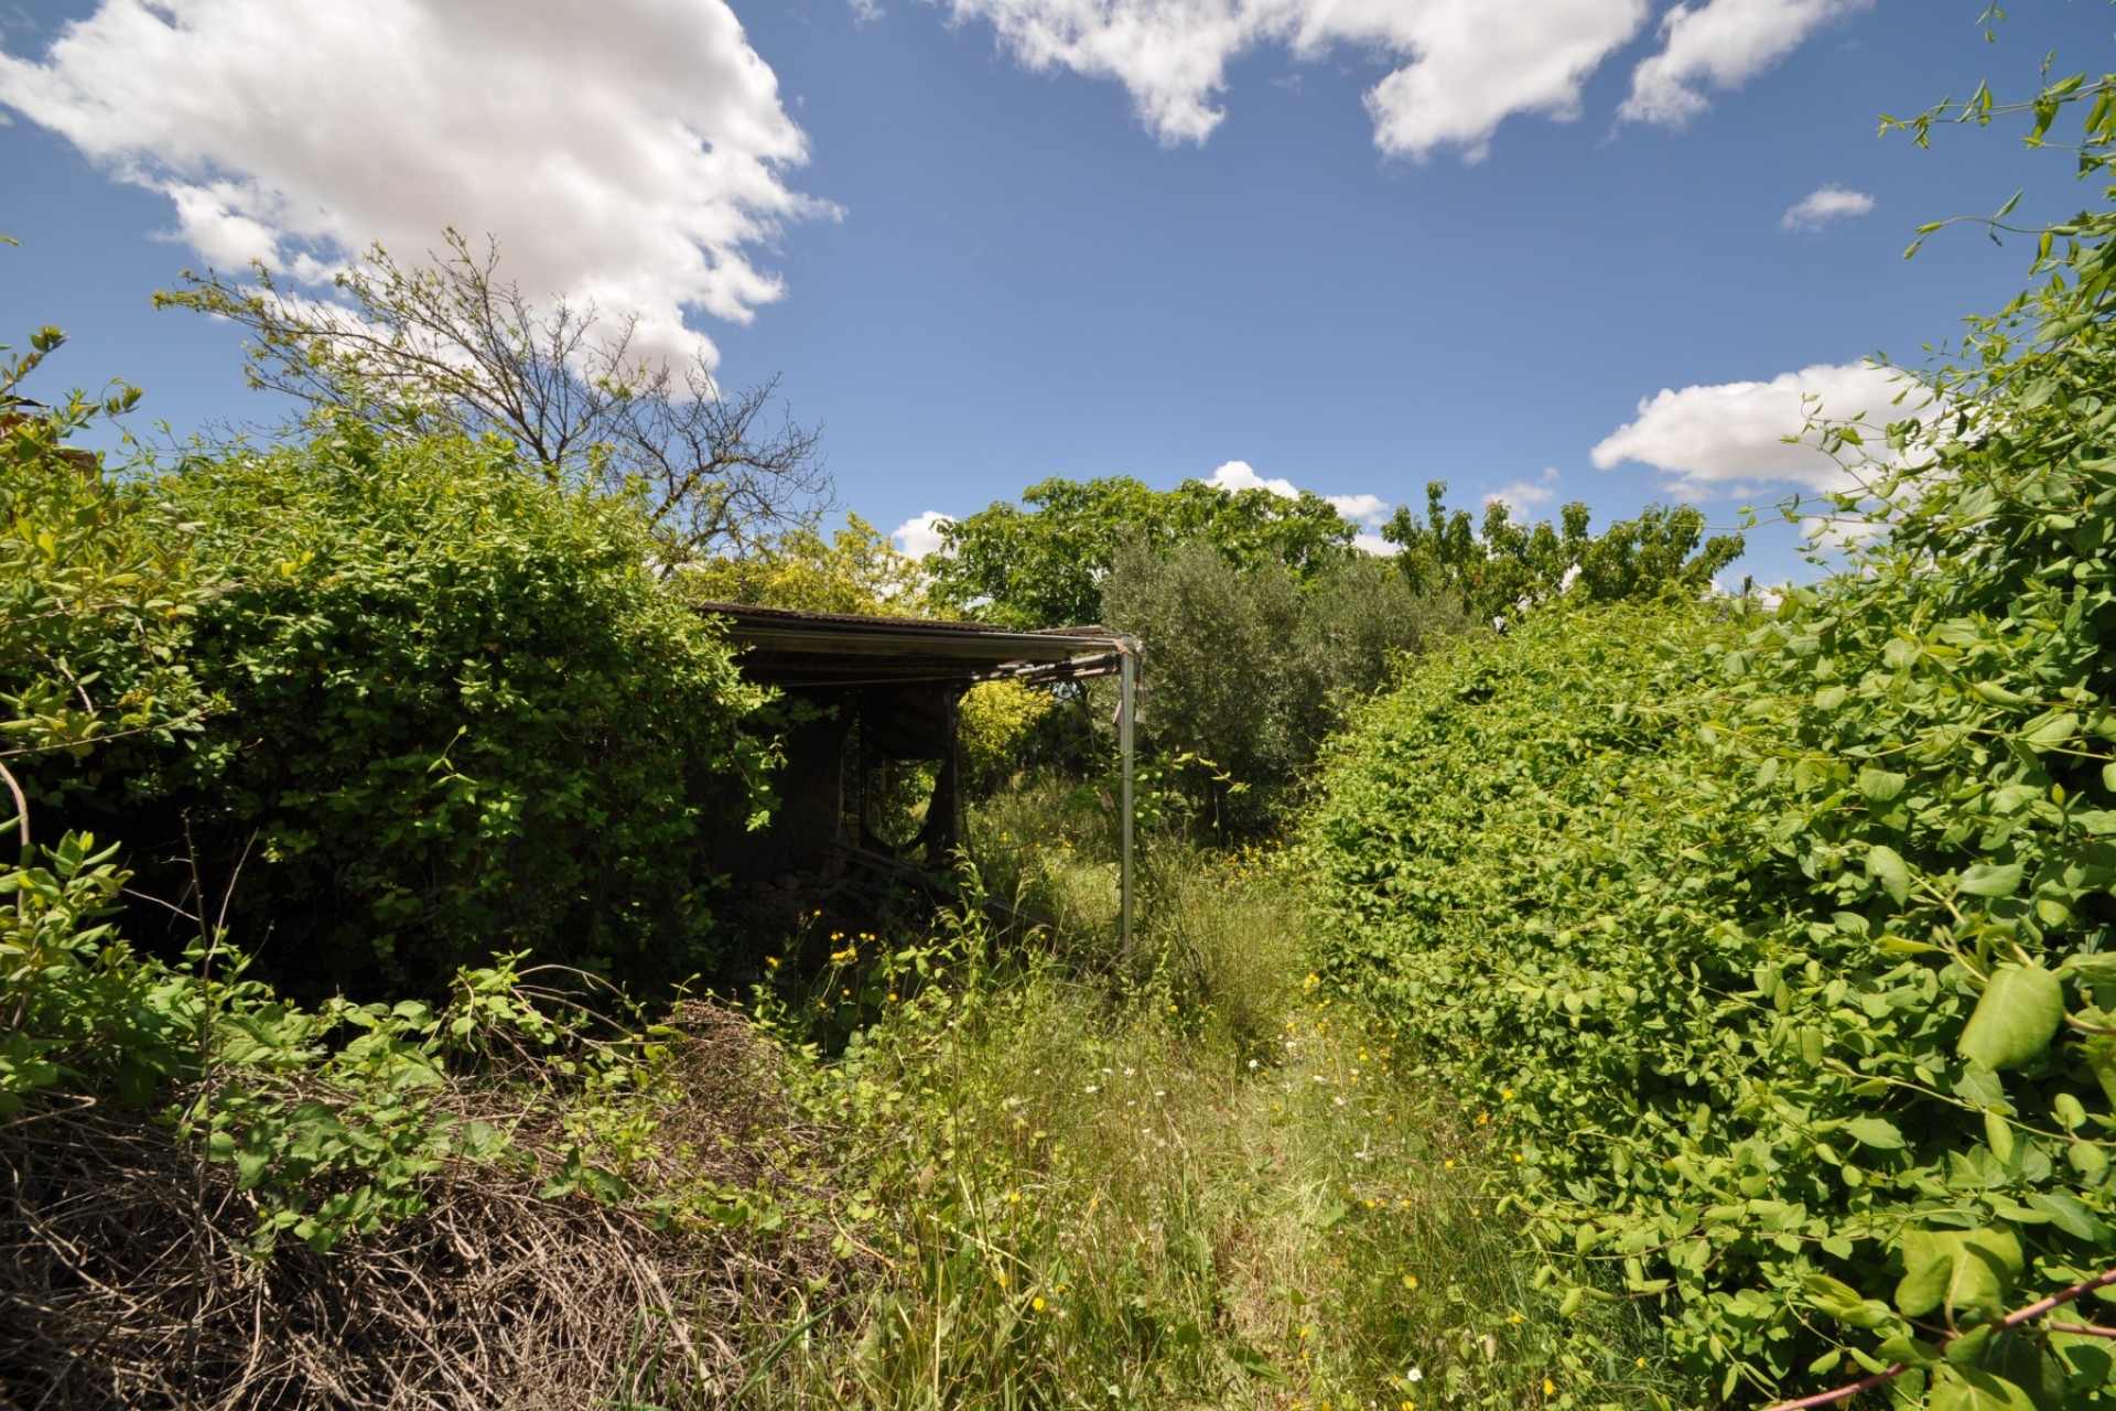
[[[1530,527],[1513,523],[1504,501],[1494,499],[1477,533],[1469,512],[1447,510],[1445,499],[1447,482],[1433,480],[1424,520],[1403,506],[1382,537],[1401,546],[1397,561],[1411,588],[1445,592],[1483,620],[1559,597],[1574,603],[1697,597],[1741,556],[1739,535],[1705,539],[1705,516],[1689,506],[1646,506],[1638,518],[1593,535],[1585,503],[1568,503],[1555,527],[1549,520]]]

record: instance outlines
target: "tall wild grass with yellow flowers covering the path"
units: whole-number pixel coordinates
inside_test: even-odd
[[[1056,859],[1018,876],[1096,865],[1056,842],[1030,833]],[[855,1331],[791,1337],[753,1405],[1682,1400],[1634,1305],[1574,1312],[1629,1360],[1570,1352],[1498,1208],[1504,1113],[1394,1077],[1390,1037],[1306,973],[1274,859],[1164,848],[1147,895],[1143,975],[959,922],[846,946],[777,1001],[789,1037],[872,1001],[842,1056],[796,1064],[796,1096],[836,1132],[838,1238],[882,1278]]]

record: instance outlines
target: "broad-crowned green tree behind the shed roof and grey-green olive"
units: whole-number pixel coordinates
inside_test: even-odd
[[[931,601],[1016,628],[1088,626],[1105,618],[1102,580],[1124,548],[1206,544],[1236,569],[1276,565],[1306,582],[1342,563],[1352,525],[1320,495],[1223,491],[1185,480],[1153,491],[1130,476],[1052,478],[942,529],[925,558]]]

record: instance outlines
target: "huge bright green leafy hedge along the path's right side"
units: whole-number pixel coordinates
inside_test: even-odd
[[[1887,429],[1923,470],[1868,468],[1892,527],[1852,571],[1775,613],[1532,618],[1329,764],[1327,975],[1718,1396],[2110,1381],[2116,1341],[2069,1331],[2116,1282],[2105,256]],[[1612,1297],[1562,1263],[1570,1307]]]

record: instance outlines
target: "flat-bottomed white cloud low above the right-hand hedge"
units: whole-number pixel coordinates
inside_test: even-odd
[[[1786,442],[1811,415],[1879,423],[1932,413],[1928,393],[1900,372],[1864,362],[1820,364],[1767,383],[1663,387],[1640,400],[1638,417],[1610,432],[1591,459],[1600,470],[1653,465],[1689,499],[1727,499],[1767,484],[1830,493],[1854,487],[1845,470],[1813,438]]]

